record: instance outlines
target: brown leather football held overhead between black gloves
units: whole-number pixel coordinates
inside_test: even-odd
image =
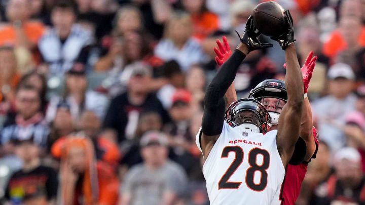
[[[252,17],[259,31],[269,37],[281,35],[286,26],[284,9],[273,1],[257,5],[253,9]]]

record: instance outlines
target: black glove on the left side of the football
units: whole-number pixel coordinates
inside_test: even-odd
[[[238,34],[238,37],[240,38],[241,42],[243,44],[247,45],[248,53],[251,51],[254,51],[254,50],[258,50],[258,49],[265,49],[265,48],[273,47],[272,44],[266,44],[266,43],[260,42],[259,36],[261,33],[260,33],[259,29],[257,29],[254,26],[252,16],[249,16],[247,19],[246,30],[243,32],[242,38],[237,31],[236,31],[236,33]]]

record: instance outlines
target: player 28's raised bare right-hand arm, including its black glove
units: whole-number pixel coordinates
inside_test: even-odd
[[[285,20],[288,24],[286,32],[275,39],[279,42],[281,48],[285,50],[287,66],[285,84],[288,100],[280,113],[276,136],[276,144],[284,166],[287,165],[291,155],[293,155],[299,137],[304,96],[303,77],[294,46],[293,19],[291,19],[288,10],[285,11]]]

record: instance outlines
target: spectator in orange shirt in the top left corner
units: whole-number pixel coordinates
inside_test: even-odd
[[[30,19],[29,0],[10,0],[7,6],[9,24],[0,29],[0,45],[14,45],[32,50],[42,36],[45,27]]]

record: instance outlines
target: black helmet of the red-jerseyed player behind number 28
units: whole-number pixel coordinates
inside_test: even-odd
[[[267,79],[262,81],[250,91],[249,98],[254,98],[261,102],[264,98],[277,98],[287,102],[287,92],[285,82],[279,79]],[[280,111],[268,111],[272,118],[272,125],[279,122]]]

